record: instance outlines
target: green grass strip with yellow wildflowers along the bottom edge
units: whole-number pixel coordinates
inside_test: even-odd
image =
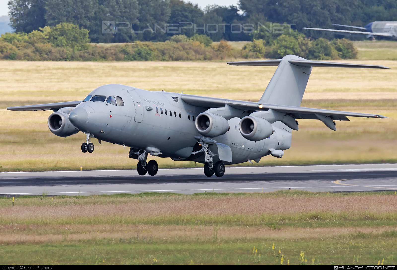
[[[218,239],[186,243],[95,239],[77,243],[0,246],[0,264],[386,264],[397,263],[395,236],[355,233],[319,239]],[[274,245],[274,250],[273,250]],[[280,252],[280,254],[279,254]],[[303,261],[302,261],[302,253]],[[260,255],[260,256],[259,256]],[[353,262],[354,258],[354,262]],[[313,260],[314,259],[314,260]]]

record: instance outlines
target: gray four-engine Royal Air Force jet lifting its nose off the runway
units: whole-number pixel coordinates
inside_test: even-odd
[[[241,66],[278,66],[258,102],[146,91],[109,84],[100,86],[83,100],[8,107],[12,111],[52,110],[48,128],[67,137],[81,131],[87,141],[83,152],[92,153],[91,138],[130,147],[129,157],[138,159],[140,175],[156,175],[155,160],[148,154],[173,160],[204,163],[204,174],[222,177],[225,165],[259,162],[272,155],[281,158],[291,147],[295,119],[318,119],[336,131],[335,120],[347,117],[387,118],[299,107],[313,66],[387,68],[366,64],[309,61],[295,55],[278,60],[228,62]]]

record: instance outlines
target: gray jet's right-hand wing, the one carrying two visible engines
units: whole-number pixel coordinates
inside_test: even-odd
[[[281,113],[287,113],[295,119],[318,119],[317,115],[328,116],[333,120],[349,121],[349,117],[368,117],[368,118],[388,118],[383,115],[373,115],[368,113],[353,113],[345,111],[333,111],[326,109],[315,109],[305,107],[294,107],[286,105],[264,104],[251,101],[241,101],[233,99],[221,99],[216,97],[202,97],[197,95],[182,95],[181,99],[190,105],[206,108],[224,107],[226,104],[240,110],[246,111],[267,111],[272,109]]]

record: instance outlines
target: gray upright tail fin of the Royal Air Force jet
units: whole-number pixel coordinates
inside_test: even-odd
[[[296,55],[281,59],[276,72],[259,102],[267,104],[301,106],[304,90],[309,80],[311,66],[296,66],[291,60],[306,60]]]

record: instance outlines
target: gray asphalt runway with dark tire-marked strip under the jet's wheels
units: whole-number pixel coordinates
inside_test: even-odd
[[[0,173],[3,195],[91,195],[140,192],[269,192],[397,190],[397,164],[226,167],[221,178],[202,168]]]

